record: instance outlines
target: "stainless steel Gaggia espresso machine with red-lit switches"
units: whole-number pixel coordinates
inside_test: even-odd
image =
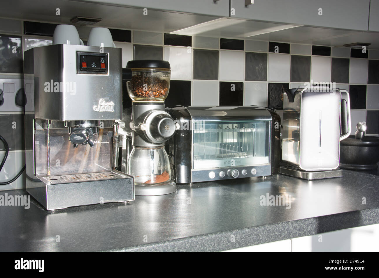
[[[56,44],[24,57],[28,193],[47,210],[134,200],[133,177],[115,170],[121,48]]]

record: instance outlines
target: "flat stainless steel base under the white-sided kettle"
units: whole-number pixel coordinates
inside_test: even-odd
[[[279,174],[288,175],[303,180],[318,180],[342,177],[342,170],[335,169],[330,171],[303,171],[288,165],[282,165]]]

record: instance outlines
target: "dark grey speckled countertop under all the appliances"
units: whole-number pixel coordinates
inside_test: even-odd
[[[291,196],[290,206],[262,206],[267,194]],[[376,174],[344,170],[341,178],[314,181],[273,175],[179,185],[176,193],[128,204],[49,212],[31,198],[29,209],[0,206],[0,251],[221,251],[377,223]]]

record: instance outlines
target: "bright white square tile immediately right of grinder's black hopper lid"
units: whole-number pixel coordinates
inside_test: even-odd
[[[186,47],[164,47],[164,60],[170,63],[172,79],[192,78],[192,53]]]

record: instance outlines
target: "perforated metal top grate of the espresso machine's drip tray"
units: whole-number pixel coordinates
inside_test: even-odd
[[[75,183],[75,182],[94,182],[101,180],[117,180],[128,179],[129,175],[119,171],[107,171],[96,173],[81,173],[70,175],[50,175],[38,177],[45,184],[61,184],[61,183]]]

